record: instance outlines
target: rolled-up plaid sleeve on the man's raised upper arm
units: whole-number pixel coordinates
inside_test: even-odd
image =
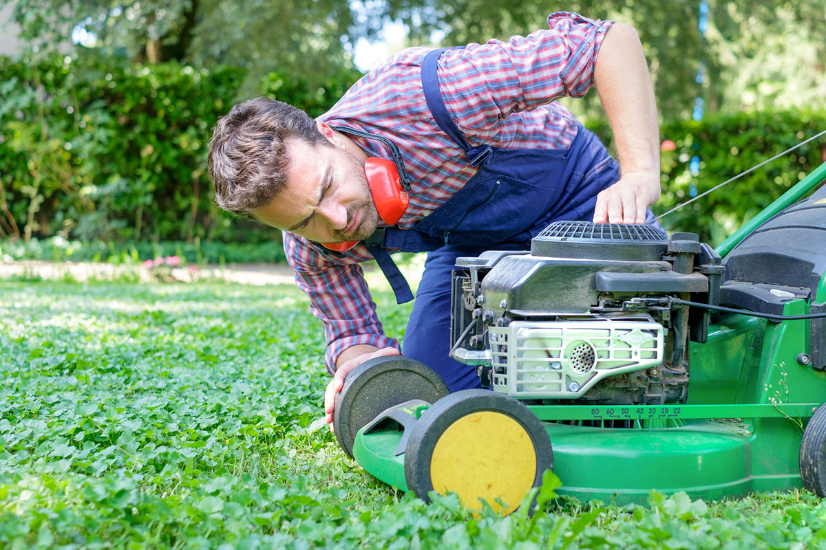
[[[449,50],[439,58],[445,105],[472,134],[495,129],[515,112],[582,97],[594,83],[596,56],[613,22],[555,12],[548,30]]]

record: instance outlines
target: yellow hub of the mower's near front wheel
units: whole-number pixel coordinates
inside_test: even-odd
[[[436,492],[449,491],[471,510],[487,501],[497,512],[501,500],[510,514],[536,478],[536,452],[528,432],[510,416],[496,411],[459,418],[436,441],[430,480]]]

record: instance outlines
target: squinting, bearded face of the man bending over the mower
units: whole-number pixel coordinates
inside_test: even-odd
[[[361,241],[376,230],[378,213],[363,166],[338,147],[287,141],[287,186],[253,217],[313,242]]]

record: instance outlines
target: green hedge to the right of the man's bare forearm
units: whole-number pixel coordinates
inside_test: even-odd
[[[612,147],[610,126],[604,119],[587,126]],[[663,214],[824,129],[823,110],[743,112],[666,122],[660,127],[662,197],[653,211]],[[667,150],[668,142],[672,150]],[[700,158],[699,172],[692,175],[695,156]],[[719,244],[824,160],[826,138],[806,143],[669,214],[662,225],[669,232],[690,231],[705,242]]]

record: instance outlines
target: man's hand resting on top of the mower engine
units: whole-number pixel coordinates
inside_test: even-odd
[[[643,223],[646,209],[660,198],[660,178],[631,173],[596,195],[594,223]]]

